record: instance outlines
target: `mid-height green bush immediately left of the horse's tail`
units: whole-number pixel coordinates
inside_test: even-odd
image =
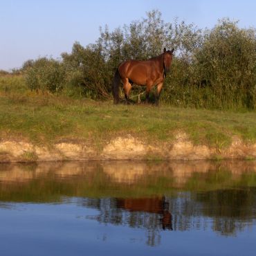
[[[93,99],[111,97],[111,74],[100,49],[84,48],[75,43],[72,53],[62,53],[62,59],[68,95],[79,94]]]

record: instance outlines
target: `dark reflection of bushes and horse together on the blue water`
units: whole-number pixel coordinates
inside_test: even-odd
[[[212,230],[236,235],[251,226],[256,217],[256,190],[178,192],[176,196],[128,199],[81,199],[99,210],[91,219],[100,223],[147,230],[147,244],[160,243],[161,230]]]

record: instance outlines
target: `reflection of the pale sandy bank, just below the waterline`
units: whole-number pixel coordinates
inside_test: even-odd
[[[33,164],[0,164],[0,182],[26,182],[54,174],[58,178],[87,176],[102,171],[115,183],[136,183],[146,176],[163,176],[175,179],[175,187],[183,185],[195,174],[227,171],[235,179],[242,174],[256,172],[256,161],[171,161],[171,162],[57,162]]]

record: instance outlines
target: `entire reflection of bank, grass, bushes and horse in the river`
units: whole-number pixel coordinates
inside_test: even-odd
[[[7,202],[63,202],[98,210],[87,219],[161,232],[213,230],[236,235],[256,217],[255,161],[92,162],[0,166],[0,208]]]

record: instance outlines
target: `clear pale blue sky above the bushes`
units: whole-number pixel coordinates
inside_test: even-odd
[[[0,0],[0,69],[10,71],[37,57],[60,57],[71,52],[74,42],[94,43],[100,26],[113,30],[154,9],[165,22],[178,17],[212,28],[229,17],[239,20],[241,28],[256,28],[255,0]]]

